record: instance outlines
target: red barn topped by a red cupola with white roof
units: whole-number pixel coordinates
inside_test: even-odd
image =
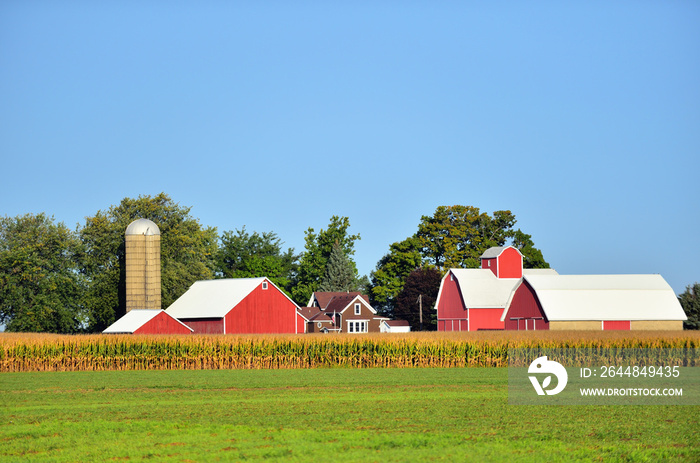
[[[556,274],[550,269],[523,270],[523,256],[512,246],[487,249],[480,269],[450,269],[435,302],[438,331],[504,329],[503,310],[523,273]]]

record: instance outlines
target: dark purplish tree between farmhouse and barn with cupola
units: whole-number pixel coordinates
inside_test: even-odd
[[[434,306],[441,280],[442,274],[435,268],[419,268],[412,271],[406,277],[403,289],[396,297],[394,317],[406,320],[413,331],[434,331],[437,329]]]

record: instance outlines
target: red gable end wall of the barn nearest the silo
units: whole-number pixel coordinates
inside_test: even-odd
[[[226,314],[229,333],[296,333],[296,306],[273,285],[255,288]]]

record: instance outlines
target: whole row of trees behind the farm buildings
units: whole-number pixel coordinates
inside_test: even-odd
[[[124,198],[76,230],[44,213],[0,218],[0,323],[8,331],[55,333],[100,332],[112,324],[126,312],[124,232],[138,218],[161,230],[163,308],[198,280],[265,276],[300,306],[314,291],[361,291],[381,314],[435,329],[430,309],[446,269],[476,268],[486,249],[506,244],[520,249],[525,267],[549,267],[531,236],[514,228],[510,211],[440,206],[361,276],[353,260],[361,238],[350,233],[347,217],[331,217],[318,232],[307,229],[304,250],[296,253],[272,231],[244,226],[219,235],[190,210],[161,193]]]

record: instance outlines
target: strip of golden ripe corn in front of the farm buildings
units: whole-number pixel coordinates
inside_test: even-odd
[[[508,349],[676,348],[698,332],[477,332],[375,335],[0,334],[0,372],[506,367]]]

